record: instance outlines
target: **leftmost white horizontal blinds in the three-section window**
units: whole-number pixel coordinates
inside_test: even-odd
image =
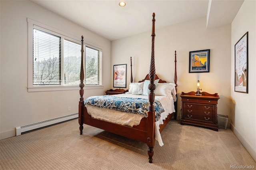
[[[33,85],[59,85],[61,38],[34,28]]]

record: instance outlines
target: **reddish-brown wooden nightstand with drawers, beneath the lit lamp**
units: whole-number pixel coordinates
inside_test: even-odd
[[[182,118],[180,124],[198,125],[218,131],[217,104],[220,97],[218,93],[199,93],[202,95],[195,95],[196,92],[194,91],[181,92]]]

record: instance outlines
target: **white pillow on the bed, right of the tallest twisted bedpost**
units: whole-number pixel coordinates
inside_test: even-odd
[[[175,94],[172,94],[172,92]],[[175,84],[174,83],[158,83],[156,90],[154,91],[155,95],[159,96],[167,96],[167,97],[174,97],[176,95],[176,90],[175,90]]]

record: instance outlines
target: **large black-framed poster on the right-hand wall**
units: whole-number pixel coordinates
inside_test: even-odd
[[[248,93],[248,32],[235,45],[235,91]]]

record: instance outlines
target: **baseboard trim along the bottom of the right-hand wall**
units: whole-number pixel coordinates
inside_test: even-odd
[[[249,152],[249,154],[252,156],[252,158],[256,161],[256,150],[252,147],[252,145],[244,138],[244,136],[233,126],[232,123],[230,123],[230,129],[233,131],[233,133],[236,135],[238,140],[242,143],[244,148]]]

